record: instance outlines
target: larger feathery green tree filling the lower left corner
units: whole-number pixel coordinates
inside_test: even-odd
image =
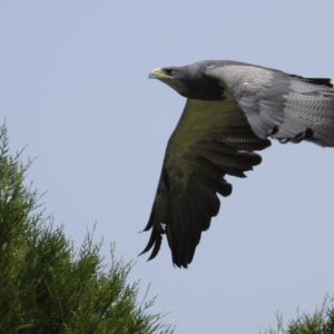
[[[0,127],[0,333],[171,333],[154,299],[138,303],[131,264],[107,267],[88,235],[79,252],[26,186],[29,164],[9,153]]]

